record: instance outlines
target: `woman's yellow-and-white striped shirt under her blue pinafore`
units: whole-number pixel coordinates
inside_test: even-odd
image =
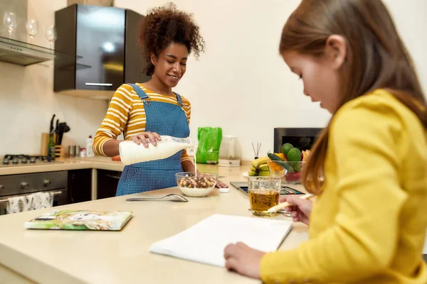
[[[179,105],[175,96],[157,94],[143,87],[142,84],[137,83],[137,85],[144,90],[152,102]],[[187,122],[190,123],[191,104],[185,97],[181,96],[181,99],[182,104],[184,104]],[[130,140],[131,136],[145,131],[146,121],[144,103],[130,85],[122,84],[113,94],[107,114],[102,121],[100,129],[95,134],[93,152],[95,155],[106,156],[102,150],[106,141],[116,139],[122,132],[124,132],[125,140]],[[190,160],[185,150],[182,153],[181,162],[184,160]]]

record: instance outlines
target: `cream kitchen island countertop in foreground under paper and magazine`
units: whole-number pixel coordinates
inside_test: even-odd
[[[92,163],[88,161],[80,163]],[[76,162],[76,164],[80,164]],[[74,165],[69,163],[68,165]],[[201,170],[217,171],[223,182],[245,181],[248,166],[222,168],[204,165]],[[295,187],[302,190],[300,186]],[[180,193],[179,188],[149,192],[149,195]],[[251,216],[248,197],[230,186],[230,192],[214,190],[208,197],[187,203],[126,202],[129,197],[112,197],[56,209],[127,210],[134,217],[122,231],[26,230],[23,222],[51,209],[0,216],[0,278],[14,283],[260,283],[226,271],[225,268],[184,261],[149,253],[155,241],[172,236],[211,214]],[[277,219],[290,220],[283,215]],[[307,240],[307,226],[294,224],[280,249],[291,249]],[[209,246],[209,244],[206,244]]]

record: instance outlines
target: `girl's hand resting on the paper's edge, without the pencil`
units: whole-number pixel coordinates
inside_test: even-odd
[[[229,244],[224,249],[228,271],[236,271],[239,274],[256,279],[261,278],[260,263],[263,255],[263,251],[256,251],[242,243]]]

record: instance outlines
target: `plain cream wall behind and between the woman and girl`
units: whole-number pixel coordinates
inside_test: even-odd
[[[115,6],[146,13],[165,0],[115,0]],[[191,132],[199,126],[221,126],[238,136],[243,158],[253,158],[251,142],[263,144],[261,155],[273,151],[275,127],[323,127],[327,111],[302,95],[297,80],[278,55],[280,33],[299,0],[175,0],[194,13],[206,40],[200,61],[189,61],[176,88],[192,104]],[[418,74],[427,89],[427,1],[386,0]]]

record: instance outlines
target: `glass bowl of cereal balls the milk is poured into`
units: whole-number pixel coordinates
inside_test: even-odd
[[[184,195],[204,197],[214,190],[218,175],[216,173],[176,173],[176,183]]]

